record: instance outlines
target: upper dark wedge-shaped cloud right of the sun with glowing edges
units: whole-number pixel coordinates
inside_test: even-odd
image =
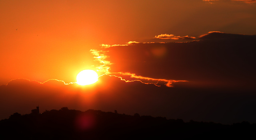
[[[190,85],[201,87],[254,87],[255,35],[214,31],[201,35],[199,39],[184,43],[136,43],[128,47],[105,48],[105,55],[109,56],[106,61],[112,63],[108,72],[189,81]],[[132,80],[130,78],[125,77]],[[165,84],[168,85],[167,82]]]

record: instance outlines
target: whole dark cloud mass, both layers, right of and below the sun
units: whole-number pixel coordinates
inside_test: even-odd
[[[0,86],[0,119],[14,112],[30,113],[39,105],[41,112],[68,106],[184,121],[255,123],[255,40],[252,35],[213,32],[188,43],[110,47],[112,72],[126,70],[145,77],[189,82],[157,87],[104,75],[94,85],[82,87],[56,80],[42,84],[16,79]],[[158,48],[165,51],[152,51]],[[126,65],[118,67],[120,63]]]

